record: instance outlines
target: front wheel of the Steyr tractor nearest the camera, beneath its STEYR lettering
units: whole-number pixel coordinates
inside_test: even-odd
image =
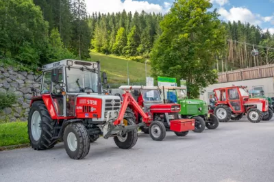
[[[64,129],[64,147],[71,159],[83,159],[88,155],[90,138],[82,123],[72,123],[66,126]]]

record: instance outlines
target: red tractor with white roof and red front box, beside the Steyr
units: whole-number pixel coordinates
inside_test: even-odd
[[[121,86],[120,89],[134,92],[128,99],[123,94],[123,102],[128,102],[127,113],[134,117],[136,124],[145,122],[140,129],[149,133],[151,138],[162,141],[166,131],[174,131],[177,136],[186,136],[188,131],[195,129],[194,119],[182,119],[179,114],[181,105],[175,103],[163,104],[158,87]]]

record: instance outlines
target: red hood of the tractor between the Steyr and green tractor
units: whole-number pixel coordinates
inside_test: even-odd
[[[174,104],[174,103],[156,104],[156,105],[151,105],[150,110],[151,112],[155,112],[155,113],[180,112],[181,105]]]

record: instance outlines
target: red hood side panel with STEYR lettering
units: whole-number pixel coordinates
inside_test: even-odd
[[[77,98],[75,113],[77,118],[101,118],[102,100],[97,98]]]

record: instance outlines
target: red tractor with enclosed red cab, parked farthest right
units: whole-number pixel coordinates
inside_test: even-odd
[[[250,122],[260,122],[264,116],[271,116],[269,102],[266,99],[249,99],[249,94],[242,86],[231,86],[227,88],[214,89],[216,104],[214,114],[220,122],[230,119],[239,120],[243,114],[247,115]],[[270,120],[271,118],[264,118]]]

